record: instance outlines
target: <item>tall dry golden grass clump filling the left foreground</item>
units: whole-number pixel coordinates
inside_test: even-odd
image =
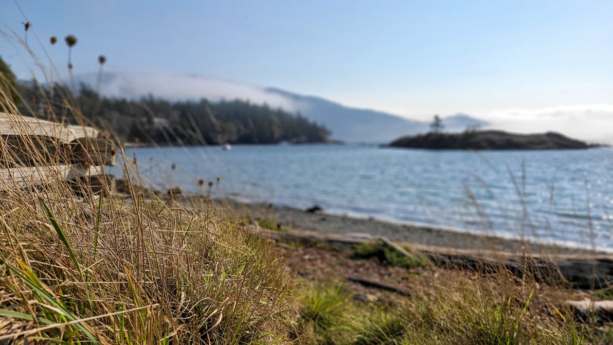
[[[0,104],[17,118],[7,94]],[[77,109],[67,107],[85,123]],[[26,138],[20,146],[29,165],[63,161],[59,145]],[[16,146],[3,141],[1,149],[0,169],[23,165]],[[76,182],[81,195],[59,177],[2,181],[0,343],[271,343],[292,336],[291,289],[269,243],[204,202],[186,210],[146,198],[153,193],[135,186],[133,167],[123,169],[132,176],[129,202],[95,195],[90,176]]]

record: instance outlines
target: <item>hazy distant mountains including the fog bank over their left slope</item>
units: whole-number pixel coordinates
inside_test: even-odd
[[[95,85],[96,75],[80,75],[77,80]],[[402,118],[376,110],[346,107],[316,96],[303,96],[278,88],[262,88],[229,82],[201,75],[163,73],[116,74],[106,72],[101,80],[101,93],[106,96],[139,98],[147,94],[169,100],[197,100],[211,102],[241,99],[253,104],[268,104],[287,112],[323,124],[332,131],[332,138],[345,142],[387,143],[402,135],[427,132],[427,121]],[[463,131],[468,126],[487,126],[471,116],[458,114],[443,118],[446,131]]]

